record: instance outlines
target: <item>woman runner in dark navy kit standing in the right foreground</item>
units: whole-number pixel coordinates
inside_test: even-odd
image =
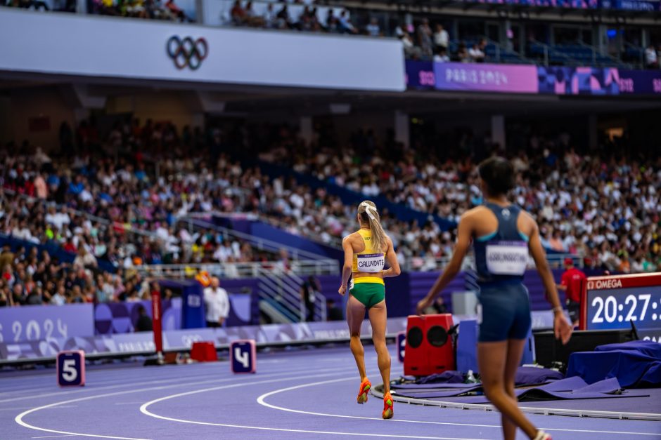
[[[522,283],[529,251],[553,305],[553,330],[563,344],[569,341],[572,326],[560,307],[556,283],[541,247],[537,222],[507,200],[506,194],[515,184],[512,165],[505,159],[492,157],[480,164],[479,172],[484,206],[461,216],[451,261],[428,295],[418,302],[418,313],[429,307],[459,272],[473,241],[477,284],[480,286],[477,362],[484,393],[501,412],[505,440],[514,440],[517,427],[530,439],[550,440],[549,434],[538,431],[525,418],[514,394],[514,375],[531,324],[528,291]]]

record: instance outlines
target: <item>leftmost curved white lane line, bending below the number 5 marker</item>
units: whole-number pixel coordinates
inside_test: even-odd
[[[287,371],[287,372],[281,372],[281,373],[271,373],[271,374],[266,374],[263,375],[263,378],[269,378],[269,377],[274,377],[274,376],[279,376],[283,374],[291,374],[291,373],[297,373],[301,371],[309,371],[309,368],[305,368],[302,370],[295,370],[295,371]],[[323,368],[320,369],[319,371],[334,371],[337,373],[337,369],[335,368]],[[243,376],[245,378],[249,378],[250,376]],[[298,378],[300,376],[295,376],[293,378],[288,378],[288,380]],[[147,388],[140,388],[140,389],[128,389],[126,391],[117,391],[117,392],[112,392],[112,393],[105,393],[105,394],[97,394],[96,396],[85,396],[85,397],[79,397],[77,399],[70,399],[70,400],[65,400],[65,401],[59,401],[55,402],[53,404],[48,404],[44,406],[37,406],[35,408],[31,408],[27,411],[23,411],[23,413],[20,413],[14,418],[14,421],[18,423],[18,425],[21,425],[23,427],[26,427],[28,429],[35,429],[37,431],[44,431],[44,432],[53,432],[54,434],[68,434],[71,436],[84,436],[84,437],[98,437],[102,439],[118,439],[118,440],[148,440],[148,439],[131,439],[129,437],[119,437],[119,436],[106,436],[106,435],[98,435],[98,434],[82,434],[79,432],[68,432],[68,431],[59,431],[57,429],[48,429],[48,428],[41,428],[37,427],[34,425],[30,425],[29,423],[25,422],[23,418],[25,418],[26,415],[35,413],[37,411],[41,411],[47,408],[53,408],[54,406],[60,406],[60,405],[65,405],[65,404],[72,404],[74,402],[80,402],[80,401],[87,401],[91,399],[99,399],[101,397],[110,397],[110,396],[122,396],[124,394],[132,394],[136,392],[144,392],[144,391],[153,391],[153,390],[158,390],[158,389],[170,389],[170,388],[175,388],[175,387],[185,387],[188,385],[205,385],[205,384],[210,384],[210,383],[219,383],[219,382],[229,382],[231,380],[236,380],[236,377],[231,377],[231,378],[224,378],[224,379],[213,379],[213,380],[203,380],[200,382],[184,382],[184,383],[176,383],[173,385],[162,385],[160,387],[147,387]],[[172,382],[172,380],[170,380]],[[250,382],[241,382],[239,384],[236,384],[235,386],[243,386],[243,385],[248,385]],[[130,384],[132,386],[135,386],[136,384]]]

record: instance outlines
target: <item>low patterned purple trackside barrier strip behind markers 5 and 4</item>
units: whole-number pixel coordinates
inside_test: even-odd
[[[387,333],[394,337],[406,330],[406,318],[390,318]],[[362,334],[371,335],[369,321],[364,321]],[[193,342],[213,341],[216,347],[229,347],[233,340],[252,339],[261,345],[287,342],[321,342],[349,340],[345,321],[310,322],[296,324],[269,324],[266,326],[240,326],[227,328],[190,328],[163,332],[165,350],[189,349]],[[0,342],[0,364],[30,359],[55,359],[62,350],[84,350],[89,355],[121,355],[154,352],[153,333],[126,333],[75,338],[51,338],[30,342]]]

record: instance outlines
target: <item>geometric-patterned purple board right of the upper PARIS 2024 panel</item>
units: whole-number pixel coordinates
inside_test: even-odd
[[[537,70],[542,94],[620,94],[620,72],[612,67],[537,67]]]

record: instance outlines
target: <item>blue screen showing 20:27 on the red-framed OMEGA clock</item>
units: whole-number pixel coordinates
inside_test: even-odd
[[[661,327],[661,286],[588,291],[587,328],[589,330]]]

